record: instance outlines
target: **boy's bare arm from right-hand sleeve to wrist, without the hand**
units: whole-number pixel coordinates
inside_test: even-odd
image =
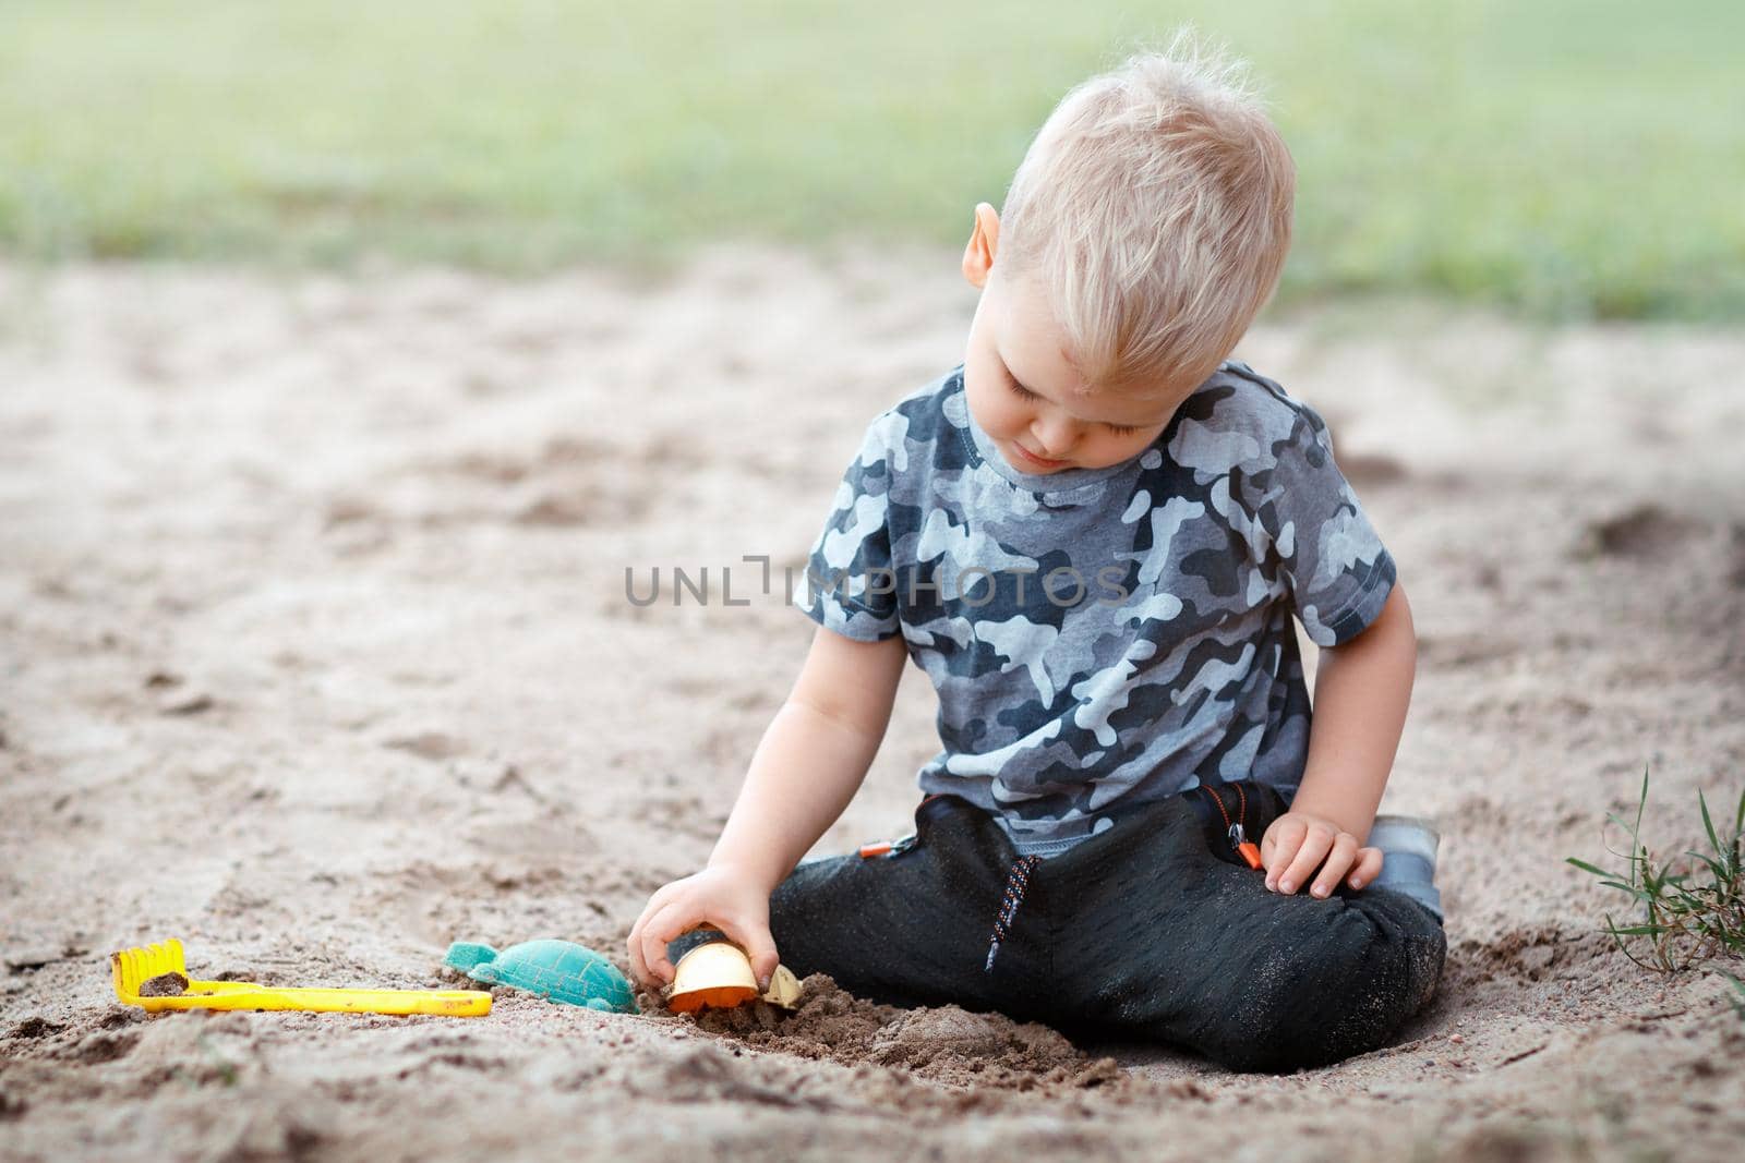
[[[1382,802],[1412,701],[1417,636],[1398,584],[1380,616],[1316,668],[1309,764],[1291,811],[1366,837]]]

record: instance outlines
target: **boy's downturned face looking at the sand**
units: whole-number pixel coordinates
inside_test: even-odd
[[[979,209],[977,237],[984,234],[982,209],[993,214]],[[972,255],[975,248],[972,239]],[[989,260],[991,251],[988,246]],[[967,255],[965,275],[982,296],[963,357],[963,394],[1007,464],[1045,474],[1101,469],[1145,452],[1192,387],[1145,394],[1089,389],[1064,350],[1042,286],[991,262],[977,267]]]

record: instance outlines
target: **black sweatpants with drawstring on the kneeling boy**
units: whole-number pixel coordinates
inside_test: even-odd
[[[1284,809],[1253,781],[1195,788],[1038,860],[934,795],[888,854],[799,865],[770,929],[794,973],[874,1001],[1159,1039],[1239,1071],[1337,1062],[1429,1001],[1447,942],[1389,889],[1269,893],[1228,825],[1258,842]]]

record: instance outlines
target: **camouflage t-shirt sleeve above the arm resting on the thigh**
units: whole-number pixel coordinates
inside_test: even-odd
[[[1394,560],[1333,460],[1314,408],[1293,401],[1244,493],[1265,532],[1262,568],[1284,581],[1309,638],[1340,645],[1368,629],[1394,588]]]

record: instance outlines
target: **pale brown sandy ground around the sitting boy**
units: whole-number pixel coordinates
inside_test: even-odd
[[[1422,633],[1386,807],[1443,826],[1450,959],[1391,1048],[1237,1076],[822,980],[703,1024],[115,1004],[106,954],[166,936],[274,983],[623,962],[811,633],[742,556],[801,563],[866,420],[958,361],[955,267],[0,267],[0,1156],[1736,1158],[1745,1022],[1616,954],[1564,856],[1644,767],[1666,846],[1745,778],[1742,333],[1347,305],[1242,349],[1328,415]],[[934,748],[911,671],[820,851],[904,832]]]

